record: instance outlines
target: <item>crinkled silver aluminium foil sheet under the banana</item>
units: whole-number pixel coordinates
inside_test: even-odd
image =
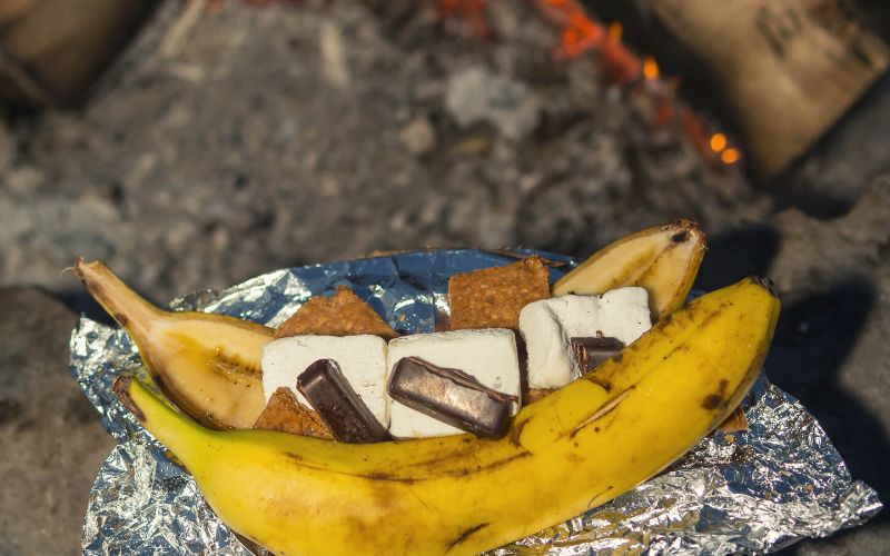
[[[553,278],[575,264],[544,255],[563,264],[552,269]],[[275,326],[309,297],[348,285],[397,330],[432,331],[436,314],[447,311],[452,274],[510,261],[478,250],[397,254],[278,270],[171,306]],[[71,336],[71,373],[120,441],[90,494],[83,553],[253,554],[111,394],[117,375],[145,376],[127,334],[81,318]],[[851,479],[825,433],[793,397],[761,375],[743,407],[750,430],[718,430],[612,503],[493,554],[763,553],[860,525],[878,513],[877,493]]]

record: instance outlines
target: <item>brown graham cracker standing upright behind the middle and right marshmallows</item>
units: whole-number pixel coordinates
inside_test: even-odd
[[[520,327],[520,311],[550,297],[550,274],[541,257],[485,268],[448,280],[451,329]]]

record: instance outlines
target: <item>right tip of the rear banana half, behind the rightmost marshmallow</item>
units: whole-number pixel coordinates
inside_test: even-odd
[[[554,296],[605,294],[624,286],[649,291],[652,318],[683,305],[704,257],[704,234],[695,222],[675,220],[614,241],[553,285]]]

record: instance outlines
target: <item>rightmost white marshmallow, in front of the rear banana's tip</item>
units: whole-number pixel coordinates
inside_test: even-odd
[[[520,334],[528,351],[528,387],[558,388],[581,376],[571,347],[574,337],[601,332],[630,345],[651,327],[649,295],[643,288],[531,302],[520,312]]]

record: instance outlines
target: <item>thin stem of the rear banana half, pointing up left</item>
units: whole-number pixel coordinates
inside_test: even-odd
[[[147,334],[151,322],[164,315],[161,309],[134,291],[100,260],[86,262],[78,258],[73,270],[99,305],[136,336]]]

